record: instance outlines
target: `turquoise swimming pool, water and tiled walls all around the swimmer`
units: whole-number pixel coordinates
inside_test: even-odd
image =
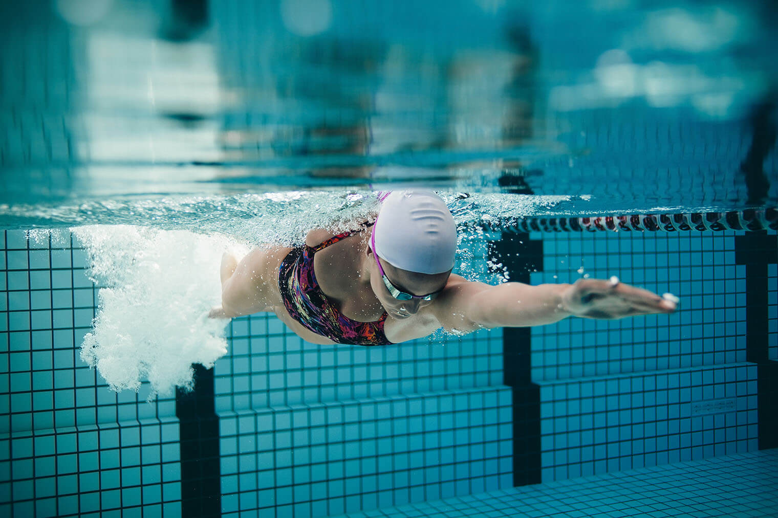
[[[772,8],[72,5],[2,7],[6,515],[778,506]],[[200,318],[223,248],[408,185],[469,278],[681,309],[371,349]]]

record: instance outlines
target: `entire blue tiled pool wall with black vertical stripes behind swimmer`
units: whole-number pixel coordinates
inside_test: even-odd
[[[195,393],[152,404],[148,386],[115,394],[79,359],[96,287],[74,238],[0,236],[7,516],[328,516],[775,446],[774,232],[761,252],[734,232],[520,236],[542,253],[518,272],[533,283],[618,274],[682,299],[671,316],[524,330],[529,366],[510,363],[527,344],[508,332],[327,347],[259,313],[233,320]],[[517,369],[530,376],[511,387]]]

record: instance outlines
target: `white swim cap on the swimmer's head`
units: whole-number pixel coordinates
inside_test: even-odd
[[[457,226],[433,191],[397,191],[381,206],[373,250],[395,268],[438,274],[454,268]]]

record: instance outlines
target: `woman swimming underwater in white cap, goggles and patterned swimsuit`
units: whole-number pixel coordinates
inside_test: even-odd
[[[210,317],[272,311],[314,344],[389,345],[443,327],[466,334],[552,324],[566,317],[617,319],[672,313],[678,299],[608,280],[489,285],[454,275],[457,230],[432,191],[389,194],[375,222],[333,236],[311,230],[304,246],[225,254],[222,306]]]

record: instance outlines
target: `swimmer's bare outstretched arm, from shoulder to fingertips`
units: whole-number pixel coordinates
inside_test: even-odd
[[[672,313],[676,303],[655,293],[611,280],[579,279],[574,284],[527,285],[453,281],[434,311],[447,331],[552,324],[566,317],[617,319]]]

